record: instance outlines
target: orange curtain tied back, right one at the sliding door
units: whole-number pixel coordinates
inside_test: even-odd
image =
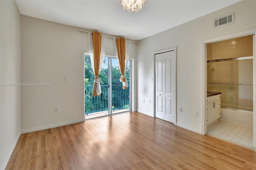
[[[127,80],[124,77],[125,74],[125,38],[119,37],[116,39],[116,47],[117,47],[117,53],[118,53],[118,62],[121,72],[120,82],[123,82],[123,89],[127,89],[127,85],[124,85]]]

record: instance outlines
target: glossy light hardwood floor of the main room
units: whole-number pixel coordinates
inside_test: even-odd
[[[10,169],[255,170],[256,153],[130,112],[22,134]]]

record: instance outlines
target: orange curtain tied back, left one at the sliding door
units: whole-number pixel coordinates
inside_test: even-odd
[[[93,58],[94,58],[94,85],[92,96],[98,96],[96,92],[96,83],[100,82],[100,50],[101,50],[101,35],[99,32],[94,31],[92,33],[92,44],[93,44]]]

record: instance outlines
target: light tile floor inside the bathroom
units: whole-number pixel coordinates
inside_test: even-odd
[[[207,128],[207,134],[255,149],[252,145],[253,128],[250,126],[219,120]]]

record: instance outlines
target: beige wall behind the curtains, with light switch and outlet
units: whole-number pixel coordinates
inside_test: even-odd
[[[84,53],[89,50],[88,33],[79,30],[21,15],[21,82],[52,83],[21,87],[22,133],[84,120]],[[112,38],[107,38],[105,55],[115,55]]]

